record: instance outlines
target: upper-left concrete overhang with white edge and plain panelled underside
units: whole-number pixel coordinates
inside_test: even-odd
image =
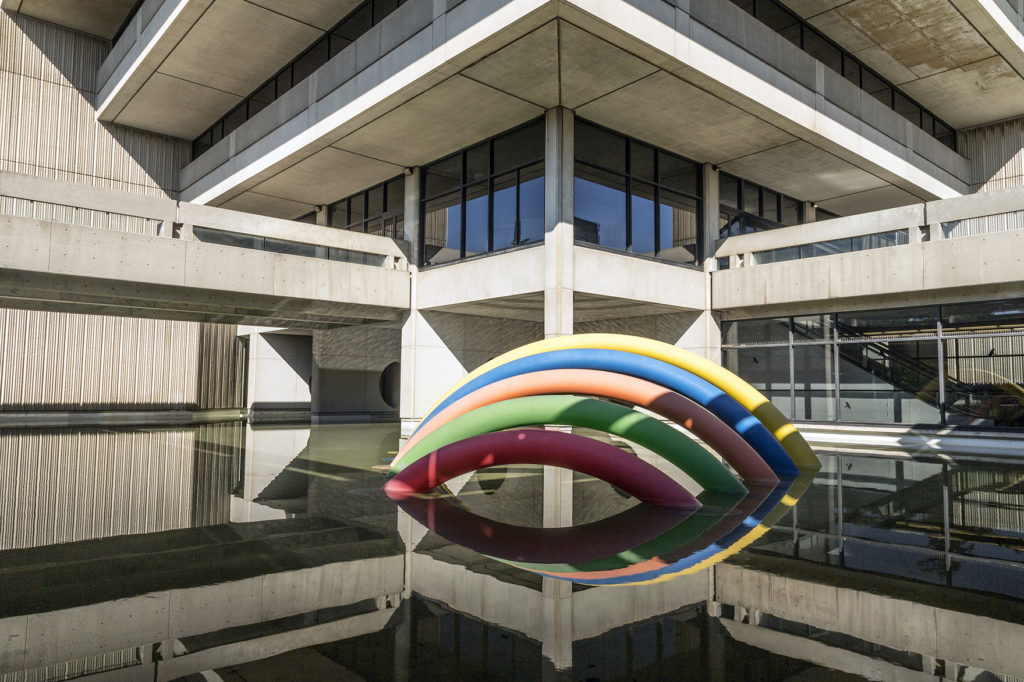
[[[146,0],[99,68],[96,118],[191,139],[358,4]]]

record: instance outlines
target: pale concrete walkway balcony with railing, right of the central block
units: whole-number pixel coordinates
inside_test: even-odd
[[[905,244],[868,239],[864,250],[822,255],[898,232]],[[712,275],[712,307],[763,316],[1021,296],[1021,254],[1024,190],[979,193],[728,238],[715,254],[730,267]]]

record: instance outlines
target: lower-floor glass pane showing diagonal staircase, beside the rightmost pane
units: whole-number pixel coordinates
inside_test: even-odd
[[[840,420],[938,424],[934,340],[841,343]]]

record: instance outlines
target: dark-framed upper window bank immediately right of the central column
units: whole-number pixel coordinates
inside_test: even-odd
[[[579,119],[574,147],[577,242],[701,263],[699,164]]]

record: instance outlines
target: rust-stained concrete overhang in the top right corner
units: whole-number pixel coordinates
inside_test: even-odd
[[[1024,114],[1016,0],[785,4],[953,128]]]

